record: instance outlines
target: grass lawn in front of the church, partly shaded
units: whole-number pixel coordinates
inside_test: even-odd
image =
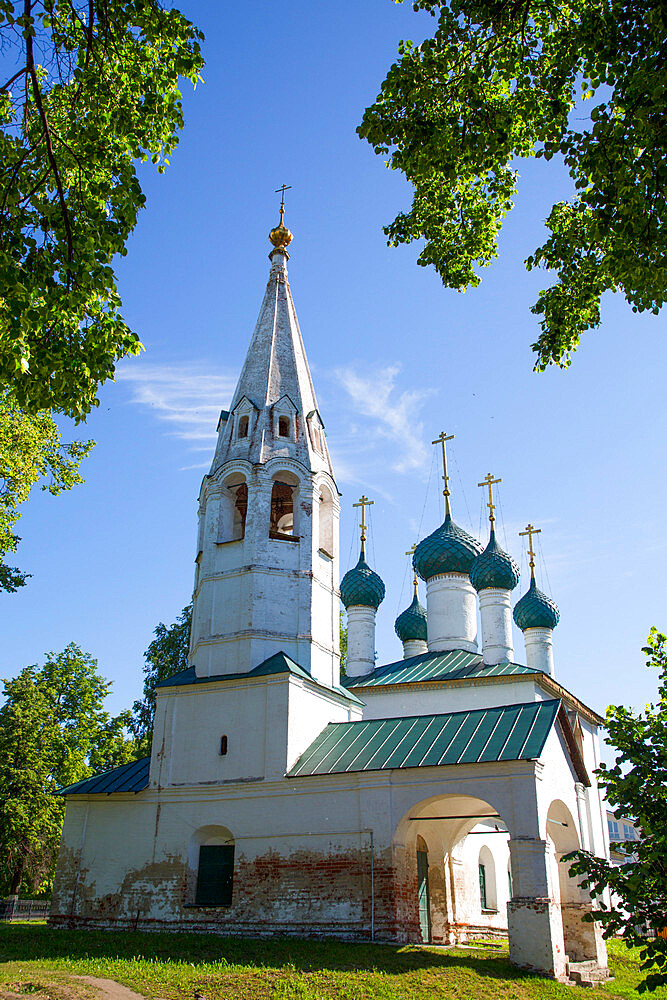
[[[507,950],[426,949],[327,941],[253,941],[210,934],[57,931],[0,926],[0,995],[90,995],[71,976],[115,979],[160,1000],[577,1000],[590,990],[530,976]],[[616,979],[600,1000],[638,1000],[636,955],[610,947]],[[667,1000],[667,990],[656,1000]]]

